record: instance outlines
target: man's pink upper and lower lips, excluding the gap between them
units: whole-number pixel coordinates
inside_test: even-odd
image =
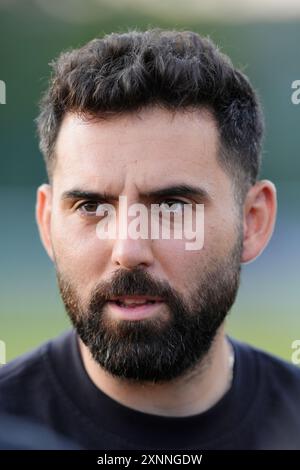
[[[130,299],[130,300],[151,300],[154,303],[151,304],[144,304],[144,305],[135,305],[134,307],[123,307],[118,305],[115,300],[122,300],[122,299]],[[118,297],[116,299],[112,298],[107,302],[110,312],[115,318],[119,318],[122,320],[143,320],[145,318],[152,317],[155,315],[161,306],[163,305],[163,300],[157,297],[144,297],[144,296],[123,296]]]

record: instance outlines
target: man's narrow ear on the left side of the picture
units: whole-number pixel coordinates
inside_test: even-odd
[[[51,243],[51,210],[52,187],[50,184],[42,184],[37,190],[35,215],[42,243],[53,261]]]

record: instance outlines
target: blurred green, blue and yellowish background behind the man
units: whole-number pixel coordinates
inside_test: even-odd
[[[0,80],[7,87],[0,105],[0,340],[7,360],[69,326],[34,219],[36,187],[46,180],[34,118],[48,63],[95,36],[149,26],[210,35],[259,92],[267,123],[262,177],[277,185],[278,221],[265,252],[243,267],[228,332],[290,360],[300,338],[300,105],[291,102],[291,83],[300,79],[300,21],[208,20],[182,15],[182,8],[169,15],[125,3],[0,0]]]

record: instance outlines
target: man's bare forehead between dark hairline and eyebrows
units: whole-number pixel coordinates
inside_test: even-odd
[[[218,144],[208,111],[153,108],[108,120],[68,114],[56,143],[53,182],[63,189],[101,186],[119,194],[131,183],[150,191],[163,184],[201,182],[209,190],[224,178]]]

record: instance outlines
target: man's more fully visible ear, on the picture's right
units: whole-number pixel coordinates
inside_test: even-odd
[[[257,258],[267,246],[275,225],[276,188],[271,181],[258,181],[250,188],[244,204],[242,263]]]

